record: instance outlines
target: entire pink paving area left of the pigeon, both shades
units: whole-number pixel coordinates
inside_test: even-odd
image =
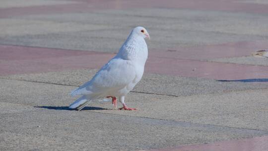
[[[100,68],[115,54],[0,45],[0,75]]]

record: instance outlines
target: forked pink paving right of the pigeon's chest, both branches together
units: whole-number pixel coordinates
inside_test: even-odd
[[[252,52],[267,48],[267,43],[268,41],[254,41],[151,50],[145,72],[222,80],[267,78],[268,67],[200,61],[250,56]]]

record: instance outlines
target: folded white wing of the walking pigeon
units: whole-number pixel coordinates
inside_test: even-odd
[[[74,90],[71,95],[90,95],[121,89],[131,83],[135,76],[135,68],[131,61],[114,58],[103,66],[90,81]]]

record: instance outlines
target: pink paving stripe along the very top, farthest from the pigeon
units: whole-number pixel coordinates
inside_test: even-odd
[[[90,12],[97,9],[190,8],[234,12],[268,13],[266,4],[239,0],[74,0],[78,3],[0,8],[0,17],[30,14]]]

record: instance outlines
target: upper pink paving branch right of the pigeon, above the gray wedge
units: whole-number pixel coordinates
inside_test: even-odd
[[[191,48],[150,50],[150,57],[190,60],[209,60],[225,57],[250,56],[252,52],[268,48],[268,40],[204,45]]]

